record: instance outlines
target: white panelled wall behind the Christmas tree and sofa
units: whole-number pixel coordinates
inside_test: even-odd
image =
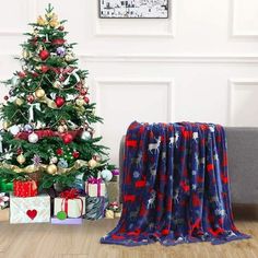
[[[101,20],[97,0],[3,1],[0,79],[19,69],[21,33],[48,2],[79,43],[115,163],[134,119],[258,126],[257,0],[171,0],[168,20]]]

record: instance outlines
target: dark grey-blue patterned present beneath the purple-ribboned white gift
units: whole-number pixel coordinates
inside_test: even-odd
[[[106,197],[87,197],[86,198],[86,213],[87,220],[99,220],[105,216],[108,200]]]

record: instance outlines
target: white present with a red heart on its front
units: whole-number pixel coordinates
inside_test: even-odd
[[[50,221],[50,197],[15,197],[10,194],[10,223],[43,223]]]

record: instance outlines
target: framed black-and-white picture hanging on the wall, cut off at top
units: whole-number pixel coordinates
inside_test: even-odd
[[[98,0],[102,19],[167,19],[169,0]]]

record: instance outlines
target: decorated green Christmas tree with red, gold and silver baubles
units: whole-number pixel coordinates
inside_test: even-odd
[[[1,106],[0,178],[36,176],[40,189],[73,187],[81,175],[112,168],[107,148],[94,137],[102,118],[89,98],[87,71],[78,68],[64,23],[49,4],[24,34],[21,71],[3,82],[11,90]]]

